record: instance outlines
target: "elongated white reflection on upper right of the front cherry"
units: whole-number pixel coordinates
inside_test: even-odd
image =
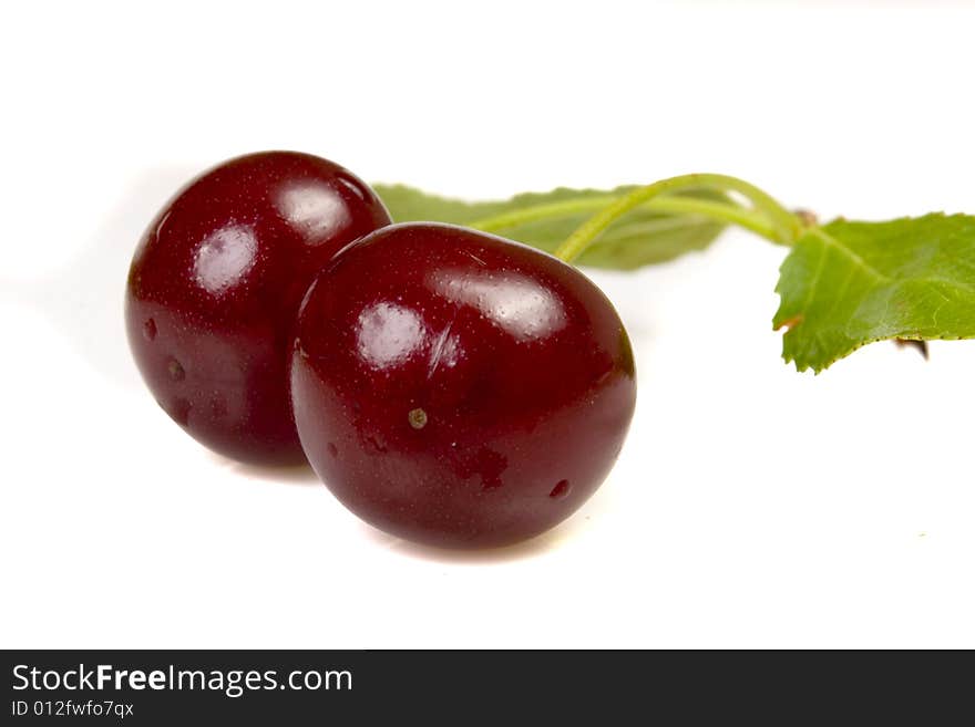
[[[544,339],[565,325],[565,310],[537,281],[515,272],[451,273],[433,281],[450,300],[478,309],[521,341]]]

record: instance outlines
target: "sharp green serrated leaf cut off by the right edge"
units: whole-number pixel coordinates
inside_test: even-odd
[[[883,339],[975,337],[975,217],[838,219],[807,230],[780,273],[773,322],[799,371]]]

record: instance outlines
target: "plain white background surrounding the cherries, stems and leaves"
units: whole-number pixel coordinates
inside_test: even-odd
[[[594,274],[636,347],[627,446],[497,552],[204,450],[122,326],[155,210],[264,148],[468,198],[722,172],[824,218],[975,212],[975,13],[265,4],[0,11],[0,645],[975,646],[975,344],[797,374],[783,251],[747,233]]]

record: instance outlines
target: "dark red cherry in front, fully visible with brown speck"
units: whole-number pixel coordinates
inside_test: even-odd
[[[435,224],[378,230],[322,271],[290,375],[305,453],[339,500],[450,548],[567,518],[613,466],[636,399],[626,331],[583,273]]]

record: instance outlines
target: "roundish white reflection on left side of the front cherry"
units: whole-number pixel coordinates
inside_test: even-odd
[[[415,312],[396,303],[376,303],[359,313],[356,347],[373,368],[387,368],[423,346],[423,322]]]

